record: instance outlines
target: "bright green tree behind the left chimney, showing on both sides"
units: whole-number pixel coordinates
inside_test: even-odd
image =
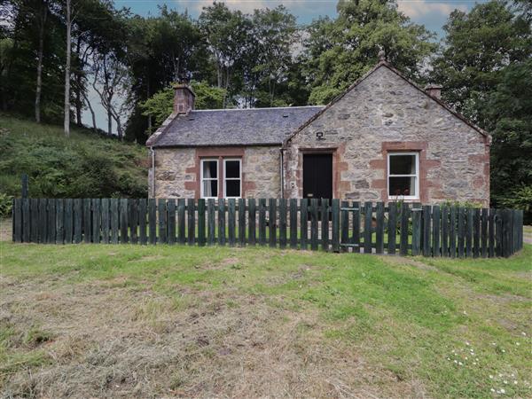
[[[206,82],[192,82],[192,90],[196,95],[195,109],[223,108],[225,90],[209,86]],[[155,126],[159,126],[174,108],[174,89],[168,87],[155,93],[151,98],[141,103],[143,114],[152,116]],[[148,131],[152,133],[152,131]]]

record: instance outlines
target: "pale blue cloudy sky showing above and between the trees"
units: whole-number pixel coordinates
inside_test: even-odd
[[[476,3],[485,3],[487,0],[399,0],[399,9],[411,20],[425,25],[429,30],[442,36],[442,26],[455,9],[468,11]],[[192,17],[200,15],[202,7],[212,4],[210,0],[114,0],[117,7],[129,7],[131,12],[147,16],[158,15],[158,6],[167,4],[169,8],[179,12],[187,10]],[[337,0],[225,0],[231,9],[242,12],[253,12],[256,8],[276,7],[278,4],[286,6],[289,12],[297,17],[300,24],[306,24],[320,15],[334,17],[336,15]],[[90,92],[91,102],[97,112],[98,127],[106,129],[106,113],[99,104],[96,93]],[[83,122],[91,124],[90,113],[83,113]]]

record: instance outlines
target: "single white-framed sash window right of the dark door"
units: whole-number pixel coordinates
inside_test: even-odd
[[[419,200],[419,153],[388,153],[388,198]]]

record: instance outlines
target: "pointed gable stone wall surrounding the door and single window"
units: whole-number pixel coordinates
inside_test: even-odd
[[[379,66],[288,141],[286,197],[302,196],[302,154],[317,151],[333,154],[335,198],[387,201],[387,152],[416,151],[419,200],[489,205],[489,137],[387,66]]]

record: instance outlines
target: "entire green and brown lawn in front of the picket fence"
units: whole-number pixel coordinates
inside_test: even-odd
[[[532,395],[532,246],[511,259],[0,242],[0,390]]]

